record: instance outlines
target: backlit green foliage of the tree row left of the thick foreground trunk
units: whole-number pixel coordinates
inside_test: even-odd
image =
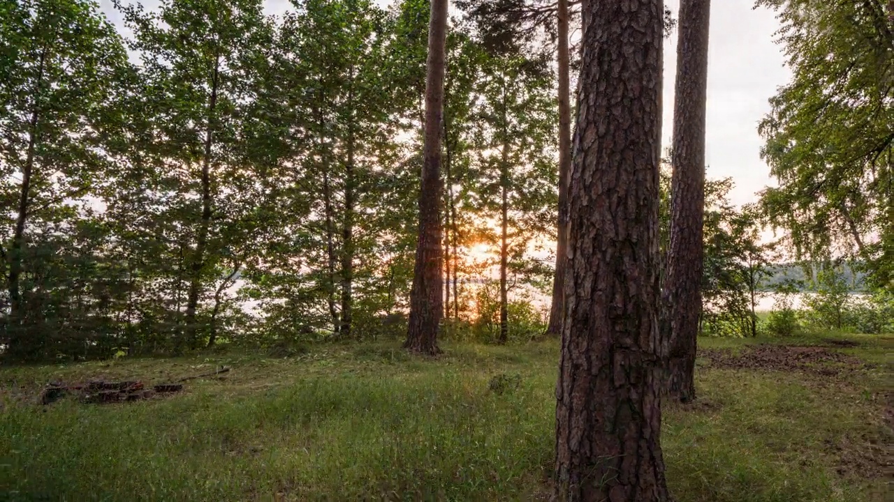
[[[113,4],[125,39],[88,0],[0,8],[4,356],[401,330],[428,2],[311,0],[279,18],[261,0]],[[478,35],[460,21],[449,35],[444,195],[457,325],[473,317],[462,283],[493,275],[469,247],[494,242],[494,188],[507,189],[519,288],[549,275],[532,255],[552,234],[556,198],[548,60],[488,51]],[[493,155],[503,145],[505,162]],[[539,318],[510,310],[518,338],[529,337]]]

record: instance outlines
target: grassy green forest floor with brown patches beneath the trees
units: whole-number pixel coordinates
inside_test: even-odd
[[[894,338],[699,343],[699,397],[664,413],[679,502],[890,497]],[[0,369],[0,500],[547,500],[558,343],[442,347]],[[220,365],[232,371],[147,400],[40,404],[48,381]]]

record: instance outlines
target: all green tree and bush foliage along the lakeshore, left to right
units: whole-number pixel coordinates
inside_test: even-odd
[[[840,255],[853,238],[851,264],[875,289],[894,263],[879,106],[890,62],[864,50],[890,27],[872,3],[760,3],[780,13],[795,79],[762,124],[780,178],[763,213],[730,205],[730,180],[706,185],[702,330],[715,336],[756,333],[764,217],[802,255]],[[261,0],[114,7],[126,38],[88,0],[0,7],[4,356],[270,349],[404,329],[429,3],[296,1],[279,18]],[[477,284],[502,268],[510,337],[531,339],[543,322],[532,297],[552,277],[553,6],[460,7],[443,122],[444,332],[496,339],[500,295]],[[823,289],[805,319],[889,329],[890,301],[842,295]]]

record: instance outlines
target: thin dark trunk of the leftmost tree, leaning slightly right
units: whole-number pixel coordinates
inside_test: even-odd
[[[25,226],[31,201],[31,176],[34,173],[35,149],[38,143],[38,125],[40,121],[40,94],[44,85],[44,65],[46,63],[46,47],[40,51],[38,60],[38,77],[32,91],[31,116],[28,121],[28,149],[25,153],[25,164],[21,168],[21,190],[19,206],[13,229],[13,242],[9,248],[9,274],[6,277],[10,300],[10,330],[8,353],[14,357],[24,356],[25,340],[22,330],[24,305],[21,299],[22,254],[25,248]]]

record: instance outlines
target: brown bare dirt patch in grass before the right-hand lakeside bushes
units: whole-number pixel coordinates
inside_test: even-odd
[[[709,365],[714,368],[797,371],[822,376],[840,376],[863,372],[869,366],[854,356],[824,347],[763,344],[743,348],[738,355],[729,350],[706,349],[699,351],[699,356],[706,357]]]

